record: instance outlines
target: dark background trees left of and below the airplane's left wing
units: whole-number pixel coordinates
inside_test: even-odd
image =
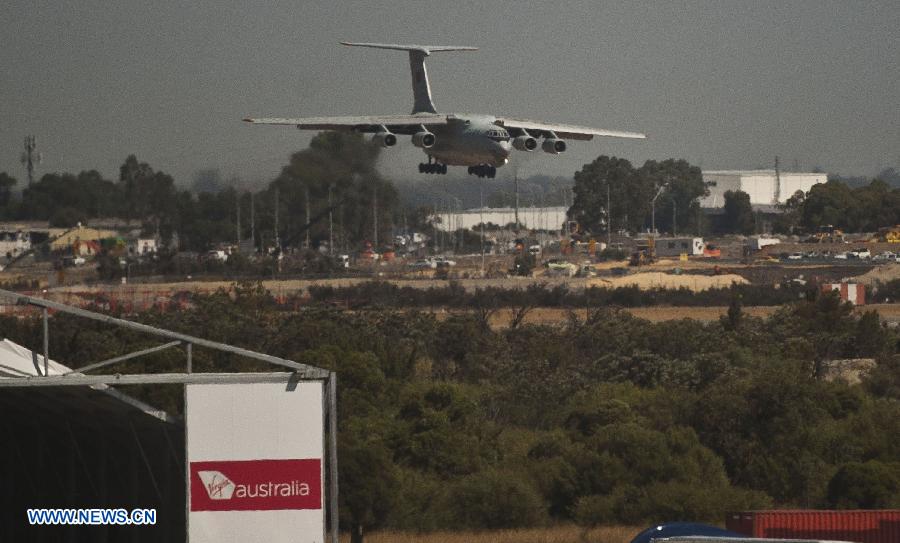
[[[49,173],[25,187],[21,198],[13,196],[17,180],[0,173],[0,220],[71,227],[120,218],[136,221],[147,234],[159,232],[164,240],[177,236],[185,250],[205,251],[216,243],[248,239],[251,230],[258,245],[274,245],[276,215],[282,242],[299,245],[308,232],[311,244],[317,244],[329,239],[330,211],[336,245],[373,240],[376,228],[384,241],[401,223],[401,208],[393,185],[375,169],[379,149],[357,134],[319,134],[255,193],[204,179],[193,191],[179,189],[172,176],[134,155],[125,159],[115,181],[96,170]]]

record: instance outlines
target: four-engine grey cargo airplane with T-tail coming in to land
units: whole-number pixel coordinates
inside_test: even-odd
[[[446,174],[447,166],[468,166],[470,175],[494,177],[497,168],[509,162],[513,149],[545,153],[565,152],[565,140],[590,140],[594,136],[645,138],[636,132],[598,130],[583,126],[545,123],[494,115],[438,113],[431,100],[431,86],[425,71],[425,57],[439,51],[475,51],[476,47],[448,45],[397,45],[351,43],[354,47],[374,47],[409,52],[412,71],[413,110],[409,115],[365,115],[305,117],[297,119],[244,119],[254,124],[294,125],[300,130],[344,130],[374,134],[384,147],[397,144],[397,135],[412,136],[412,143],[428,155],[419,164],[420,173]],[[540,138],[540,142],[538,139]]]

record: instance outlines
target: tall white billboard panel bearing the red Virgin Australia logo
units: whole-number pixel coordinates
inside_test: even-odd
[[[185,386],[190,543],[324,543],[323,383]]]

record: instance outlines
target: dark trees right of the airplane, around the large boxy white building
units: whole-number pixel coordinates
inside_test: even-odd
[[[880,176],[896,178],[893,169]],[[700,198],[707,194],[700,168],[684,160],[648,160],[636,168],[618,157],[601,155],[575,174],[575,199],[569,217],[593,235],[612,232],[757,232],[757,216],[750,196],[727,191],[721,216],[700,212]],[[839,179],[814,185],[808,193],[797,191],[779,206],[772,220],[776,233],[815,232],[833,225],[849,232],[874,232],[900,224],[900,188],[881,178],[868,184],[854,180],[851,187]]]

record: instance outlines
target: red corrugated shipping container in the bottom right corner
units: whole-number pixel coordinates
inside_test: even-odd
[[[900,509],[745,511],[729,514],[725,526],[750,537],[898,543]]]

